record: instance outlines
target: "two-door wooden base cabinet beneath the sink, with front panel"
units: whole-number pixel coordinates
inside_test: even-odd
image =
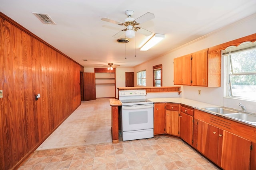
[[[195,112],[197,150],[223,169],[249,170],[252,142],[227,131],[233,129],[232,121],[205,115],[208,113]]]

